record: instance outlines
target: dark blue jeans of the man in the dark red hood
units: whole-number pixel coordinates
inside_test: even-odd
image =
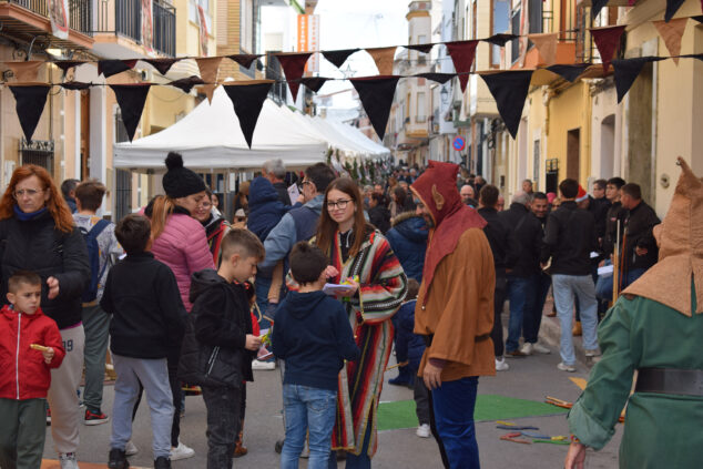
[[[437,432],[445,446],[451,469],[479,469],[473,408],[478,377],[445,381],[432,389]]]

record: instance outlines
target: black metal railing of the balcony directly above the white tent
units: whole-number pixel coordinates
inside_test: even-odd
[[[113,33],[142,43],[142,2],[141,0],[99,0],[98,28],[94,32]],[[175,55],[175,8],[153,2],[153,44],[154,50]]]

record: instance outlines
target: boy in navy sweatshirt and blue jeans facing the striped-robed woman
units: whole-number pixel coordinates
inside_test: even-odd
[[[285,360],[283,405],[286,439],[281,468],[298,467],[309,430],[308,469],[326,469],[337,408],[337,376],[344,360],[356,360],[359,349],[344,306],[325,295],[327,257],[306,242],[289,256],[297,292],[291,292],[276,312],[273,353]]]

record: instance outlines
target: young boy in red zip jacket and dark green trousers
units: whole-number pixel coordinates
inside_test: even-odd
[[[47,434],[50,368],[65,356],[61,333],[39,307],[41,278],[17,272],[0,309],[0,467],[39,468]]]

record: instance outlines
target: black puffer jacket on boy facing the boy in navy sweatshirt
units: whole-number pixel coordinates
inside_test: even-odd
[[[211,387],[240,388],[253,381],[256,351],[244,348],[252,315],[243,285],[230,284],[213,269],[193,274],[193,309],[185,326],[179,378]]]

